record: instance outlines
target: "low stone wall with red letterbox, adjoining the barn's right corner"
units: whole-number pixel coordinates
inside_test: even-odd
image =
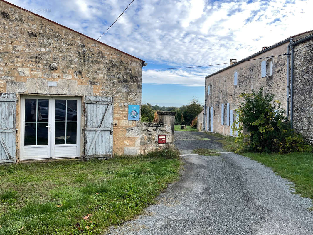
[[[141,123],[141,154],[174,146],[171,123]],[[166,135],[166,144],[158,144],[158,135]]]

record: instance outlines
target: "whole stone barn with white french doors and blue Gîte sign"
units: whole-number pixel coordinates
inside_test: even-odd
[[[140,153],[143,60],[5,1],[0,24],[0,163]]]

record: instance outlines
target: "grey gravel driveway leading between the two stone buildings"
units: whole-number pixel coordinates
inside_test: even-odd
[[[205,143],[204,148],[221,148],[205,133],[175,135],[185,152]],[[233,153],[182,159],[180,180],[142,215],[107,234],[313,234],[312,200],[292,194],[292,183],[270,168]]]

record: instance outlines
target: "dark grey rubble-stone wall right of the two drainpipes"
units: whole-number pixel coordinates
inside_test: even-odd
[[[293,128],[313,143],[313,39],[294,47]]]

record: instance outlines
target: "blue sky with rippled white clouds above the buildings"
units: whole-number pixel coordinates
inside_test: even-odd
[[[10,2],[97,39],[131,0]],[[145,69],[227,63],[312,30],[312,9],[313,0],[135,0],[100,41]],[[142,103],[204,103],[204,77],[225,66],[143,70]]]

